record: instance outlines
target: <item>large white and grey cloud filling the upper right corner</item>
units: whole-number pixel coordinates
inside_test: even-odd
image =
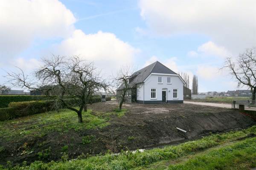
[[[204,34],[235,53],[255,45],[256,1],[140,0],[139,6],[155,34]]]

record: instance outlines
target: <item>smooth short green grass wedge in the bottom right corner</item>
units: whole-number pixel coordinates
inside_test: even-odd
[[[170,165],[168,170],[250,170],[252,167],[256,167],[256,137]]]

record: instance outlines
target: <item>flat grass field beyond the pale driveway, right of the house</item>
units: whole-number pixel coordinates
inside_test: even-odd
[[[239,100],[248,100],[249,97],[229,97],[229,96],[220,96],[220,97],[206,97],[206,99],[191,99],[188,101],[191,102],[214,102],[214,103],[233,103],[233,101]]]

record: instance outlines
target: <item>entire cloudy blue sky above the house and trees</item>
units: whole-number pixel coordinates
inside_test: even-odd
[[[247,0],[3,0],[0,84],[14,66],[29,73],[41,57],[60,54],[94,61],[106,75],[158,60],[197,75],[199,92],[237,89],[218,69],[255,46],[255,7]]]

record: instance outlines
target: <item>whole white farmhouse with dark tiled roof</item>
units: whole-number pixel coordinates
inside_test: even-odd
[[[129,84],[133,89],[127,92],[128,102],[183,103],[184,80],[158,61],[132,74]],[[121,86],[116,90],[117,95],[120,90]]]

